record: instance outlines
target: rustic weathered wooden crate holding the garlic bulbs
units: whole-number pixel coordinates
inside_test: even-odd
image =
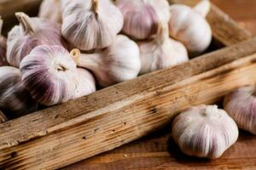
[[[14,11],[25,4],[33,11],[40,1],[21,2],[0,2],[0,14],[11,20]],[[0,124],[0,169],[70,165],[164,127],[190,105],[216,103],[230,90],[255,83],[256,38],[214,5],[207,20],[213,46],[226,48]]]

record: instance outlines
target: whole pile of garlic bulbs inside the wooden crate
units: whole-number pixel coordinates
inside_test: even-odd
[[[38,17],[15,13],[20,25],[0,37],[0,110],[22,116],[186,62],[211,42],[209,9],[207,0],[44,0]]]

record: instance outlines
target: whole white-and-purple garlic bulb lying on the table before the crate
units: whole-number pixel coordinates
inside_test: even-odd
[[[172,138],[189,156],[215,159],[236,143],[238,128],[217,105],[199,105],[174,119]]]

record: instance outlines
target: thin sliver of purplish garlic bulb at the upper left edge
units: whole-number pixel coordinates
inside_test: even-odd
[[[2,36],[3,20],[0,16],[0,66],[8,65],[6,59],[6,38]]]

